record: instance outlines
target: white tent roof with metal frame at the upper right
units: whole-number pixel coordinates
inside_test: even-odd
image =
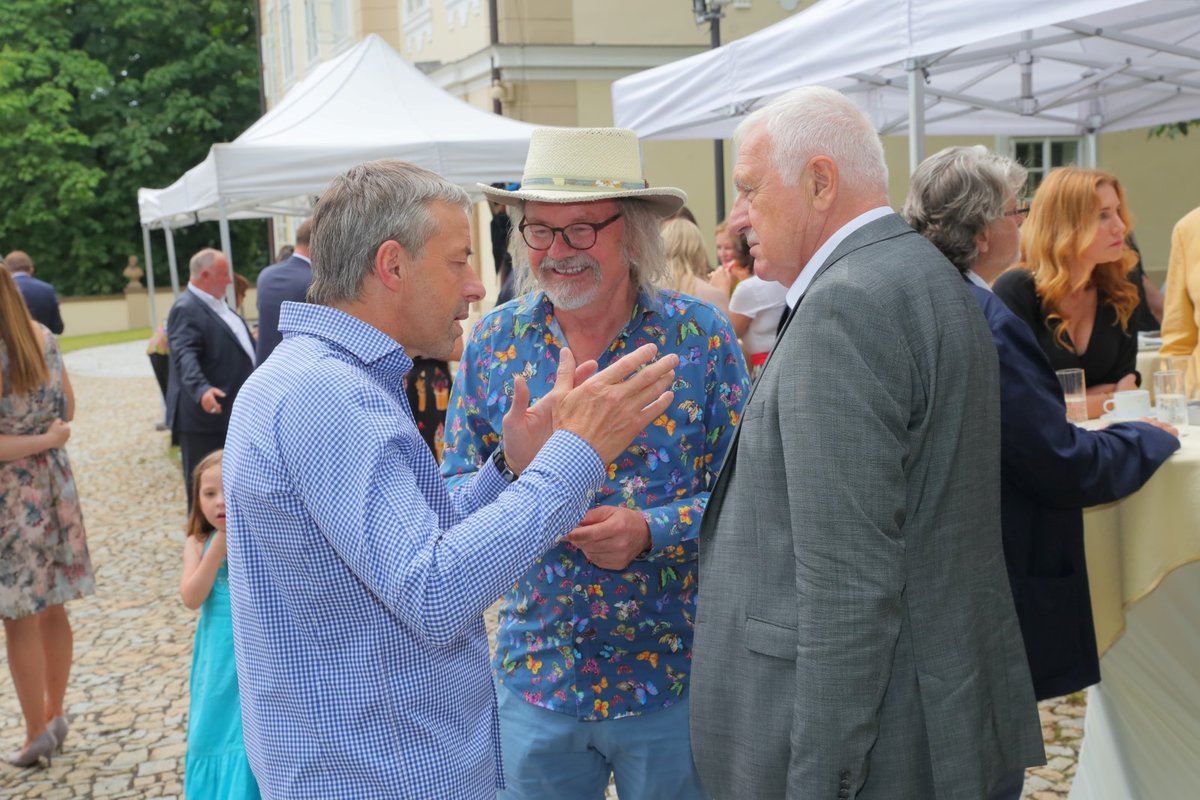
[[[1196,0],[823,0],[724,47],[613,84],[616,124],[727,138],[805,84],[857,98],[882,133],[1080,136],[1200,116]]]

